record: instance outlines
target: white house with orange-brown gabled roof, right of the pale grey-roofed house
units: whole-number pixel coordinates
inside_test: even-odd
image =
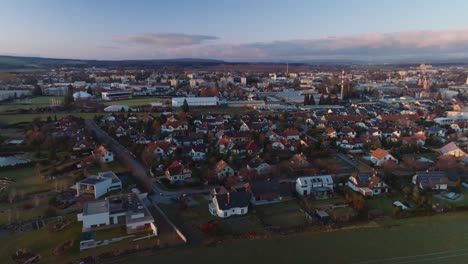
[[[380,195],[388,192],[389,189],[388,185],[375,173],[353,173],[346,185],[364,196]]]

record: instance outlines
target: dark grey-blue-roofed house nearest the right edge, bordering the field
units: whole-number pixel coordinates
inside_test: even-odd
[[[423,171],[417,172],[412,182],[421,190],[444,191],[449,187],[450,180],[443,171]]]

